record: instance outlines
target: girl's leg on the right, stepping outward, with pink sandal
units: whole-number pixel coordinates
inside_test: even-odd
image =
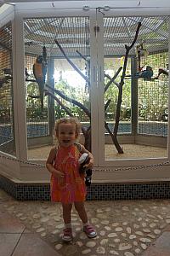
[[[90,224],[88,224],[88,215],[84,207],[84,202],[75,202],[75,209],[78,212],[79,217],[82,219],[83,230],[89,238],[97,236],[96,230]]]

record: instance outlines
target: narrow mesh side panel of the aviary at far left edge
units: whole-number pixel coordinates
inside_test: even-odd
[[[0,28],[0,150],[15,155],[12,26]]]

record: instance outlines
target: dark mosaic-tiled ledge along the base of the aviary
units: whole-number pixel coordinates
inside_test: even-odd
[[[0,175],[0,188],[19,201],[49,201],[49,183],[15,183]],[[92,183],[87,200],[168,199],[170,182]]]

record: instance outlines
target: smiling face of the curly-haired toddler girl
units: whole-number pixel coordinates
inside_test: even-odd
[[[71,146],[77,139],[76,125],[70,123],[59,124],[59,134],[57,135],[59,144],[65,148]]]

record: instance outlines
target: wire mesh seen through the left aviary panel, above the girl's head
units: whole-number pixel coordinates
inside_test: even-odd
[[[72,115],[78,115],[82,121],[86,121],[88,118],[89,122],[89,116],[85,117],[86,114],[83,113],[82,109],[78,109],[72,103],[75,100],[85,105],[84,108],[87,108],[87,111],[90,113],[88,99],[89,83],[87,81],[89,79],[89,61],[86,60],[90,56],[89,17],[26,19],[24,20],[24,32],[25,63],[26,70],[29,73],[29,79],[26,79],[26,115],[27,121],[30,120],[27,124],[28,137],[49,136],[49,122],[54,124],[54,120],[48,119],[50,115],[48,112],[49,101],[50,110],[54,109],[54,119],[70,115],[71,113]],[[56,40],[58,43],[56,43]],[[34,97],[38,94],[38,83],[36,80],[35,82],[31,80],[35,79],[32,67],[35,67],[37,57],[43,55],[43,49],[46,50],[47,54],[48,71],[46,73],[46,85],[50,84],[50,79],[54,79],[54,89],[59,91],[59,95],[55,95],[54,102],[51,98],[49,99],[45,96],[42,112],[39,98]],[[87,77],[85,81],[78,75],[70,84],[71,77],[75,77],[75,70],[68,63],[65,55],[80,70],[79,73],[82,73],[84,78]],[[51,61],[54,61],[54,69],[52,71],[49,67]],[[49,73],[51,76],[49,76]]]

